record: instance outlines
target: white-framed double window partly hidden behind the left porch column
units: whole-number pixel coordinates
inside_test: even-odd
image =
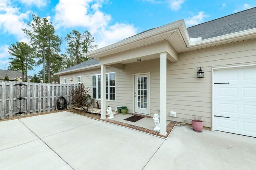
[[[101,75],[92,75],[92,97],[101,97]],[[116,73],[106,73],[106,100],[116,100]]]

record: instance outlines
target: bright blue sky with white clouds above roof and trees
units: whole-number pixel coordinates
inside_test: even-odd
[[[95,44],[104,47],[176,20],[189,27],[254,6],[255,0],[0,0],[0,69],[8,65],[11,43],[28,42],[21,28],[32,14],[53,23],[65,53],[64,38],[72,30],[90,31]]]

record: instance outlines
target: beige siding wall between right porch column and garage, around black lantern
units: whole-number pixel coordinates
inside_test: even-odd
[[[167,68],[167,111],[176,111],[188,123],[198,115],[204,126],[211,127],[211,69],[256,63],[256,40],[180,53],[178,58]],[[197,78],[199,67],[204,78]]]

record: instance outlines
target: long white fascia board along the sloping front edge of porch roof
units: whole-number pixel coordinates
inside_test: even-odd
[[[182,24],[185,25],[184,20],[178,20],[176,22],[172,22],[170,24],[166,24],[164,26],[155,28],[155,29],[147,31],[145,33],[138,34],[136,36],[127,38],[127,39],[122,40],[120,42],[113,43],[113,44],[108,45],[106,47],[102,47],[102,48],[96,49],[94,51],[90,51],[90,52],[86,53],[85,55],[87,57],[93,57],[93,55],[104,53],[104,52],[113,50],[115,48],[121,47],[121,46],[129,44],[129,43],[133,43],[133,42],[136,42],[136,41],[139,41],[139,40],[143,40],[145,38],[149,38],[149,37],[152,37],[152,36],[164,33],[164,32],[175,31]]]

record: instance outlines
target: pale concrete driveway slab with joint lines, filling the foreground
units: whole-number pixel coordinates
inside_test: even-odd
[[[167,140],[69,112],[0,122],[0,169],[253,169],[256,138],[175,127]]]

